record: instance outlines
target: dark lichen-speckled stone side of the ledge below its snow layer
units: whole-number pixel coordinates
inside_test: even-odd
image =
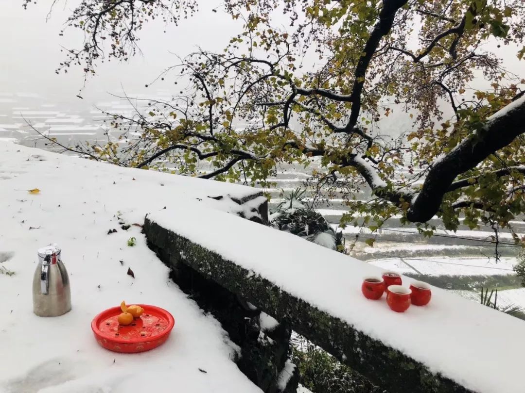
[[[279,322],[291,326],[342,363],[392,393],[470,392],[341,319],[281,290],[266,278],[166,230],[148,217],[144,222],[144,233],[150,246],[162,250],[162,259],[168,266],[176,267],[178,263],[190,266],[202,276],[257,305]]]

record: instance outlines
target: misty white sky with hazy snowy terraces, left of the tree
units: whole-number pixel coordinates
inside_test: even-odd
[[[138,33],[142,53],[128,62],[99,62],[97,74],[88,78],[84,86],[80,66],[71,67],[67,73],[55,73],[65,59],[61,50],[79,48],[82,44],[82,33],[77,29],[67,29],[65,36],[59,36],[80,0],[58,0],[51,13],[52,0],[37,0],[27,10],[22,3],[22,0],[0,2],[0,138],[28,145],[34,144],[35,133],[29,130],[24,118],[40,131],[59,134],[61,141],[91,140],[93,132],[96,136],[101,132],[102,117],[96,107],[110,112],[131,110],[128,103],[111,94],[169,99],[175,91],[169,75],[164,81],[151,82],[178,62],[176,55],[184,57],[198,47],[222,51],[243,24],[224,13],[222,3],[215,0],[201,1],[198,12],[181,20],[178,26],[166,24],[160,18],[150,20]],[[214,8],[217,12],[213,12]],[[276,13],[275,18],[277,26],[286,28],[287,16]],[[520,73],[523,64],[516,57],[519,48],[497,48],[494,40],[487,49],[501,56],[511,72]],[[315,61],[312,56],[303,63],[315,67]],[[304,70],[308,71],[308,65]],[[488,85],[481,76],[471,83],[472,90]],[[77,97],[80,89],[83,99]],[[393,115],[377,124],[382,134],[397,136],[412,127],[408,114],[401,108],[393,109]]]

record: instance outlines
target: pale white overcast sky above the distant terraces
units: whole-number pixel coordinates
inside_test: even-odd
[[[148,23],[139,33],[143,56],[132,58],[128,63],[99,64],[98,75],[89,80],[82,93],[85,100],[81,101],[75,97],[82,86],[81,70],[72,68],[68,74],[55,74],[57,64],[64,59],[61,45],[78,47],[81,43],[75,30],[70,30],[66,37],[58,36],[70,9],[79,1],[58,0],[46,23],[52,0],[38,0],[38,4],[31,4],[27,10],[21,6],[22,0],[0,0],[0,93],[32,92],[53,98],[55,102],[85,106],[108,100],[108,92],[122,93],[121,85],[132,95],[151,94],[152,89],[146,90],[144,85],[176,62],[175,56],[169,52],[184,56],[196,46],[220,50],[241,27],[239,20],[233,21],[224,13],[212,12],[213,7],[220,5],[220,0],[201,1],[198,15],[183,20],[178,27],[165,26],[160,20]],[[523,74],[521,69],[525,68],[525,62],[520,64],[517,61],[517,48],[490,47],[506,59],[511,70]],[[171,89],[172,83],[166,78],[165,82],[158,82],[153,87],[155,90]]]

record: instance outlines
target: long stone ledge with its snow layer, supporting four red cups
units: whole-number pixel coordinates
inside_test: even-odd
[[[189,218],[146,217],[148,243],[166,265],[190,267],[388,391],[522,391],[513,354],[525,350],[523,321],[434,287],[429,305],[395,313],[361,294],[377,267],[221,212],[209,212],[207,234]]]

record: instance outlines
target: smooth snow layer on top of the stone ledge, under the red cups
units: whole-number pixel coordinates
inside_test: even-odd
[[[188,207],[149,217],[468,389],[522,392],[523,321],[435,287],[426,307],[392,312],[384,300],[367,300],[360,290],[363,276],[382,269],[217,210],[207,212],[208,233],[214,234],[208,236]],[[271,247],[261,248],[262,239]],[[412,281],[403,277],[405,285]]]

